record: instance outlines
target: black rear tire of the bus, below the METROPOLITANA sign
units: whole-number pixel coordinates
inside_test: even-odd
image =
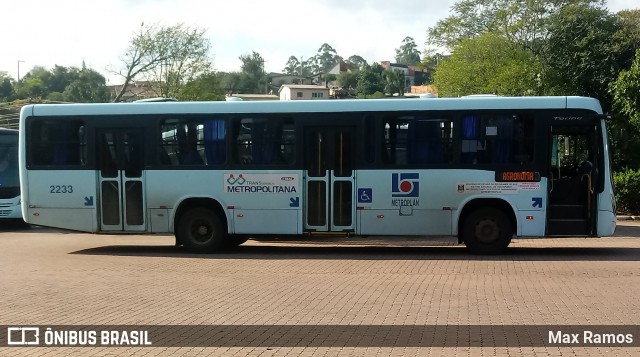
[[[207,208],[192,208],[178,222],[178,240],[191,252],[215,253],[225,248],[227,231],[220,217]]]

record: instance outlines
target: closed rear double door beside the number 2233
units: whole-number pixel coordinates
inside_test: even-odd
[[[101,231],[145,231],[143,131],[97,132]]]

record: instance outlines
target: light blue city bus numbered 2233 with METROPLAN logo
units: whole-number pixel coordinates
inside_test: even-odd
[[[22,213],[87,232],[249,238],[612,235],[605,118],[585,97],[36,104]],[[392,238],[391,238],[392,239]],[[365,240],[366,241],[366,240]]]

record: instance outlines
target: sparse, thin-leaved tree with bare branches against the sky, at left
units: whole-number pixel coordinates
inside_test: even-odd
[[[115,72],[124,84],[114,98],[122,101],[134,80],[154,81],[161,95],[174,96],[181,87],[211,70],[210,42],[205,31],[183,24],[145,26],[135,33],[121,57],[123,69]]]

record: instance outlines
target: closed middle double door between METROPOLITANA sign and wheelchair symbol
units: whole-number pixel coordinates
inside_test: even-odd
[[[304,228],[307,232],[355,229],[355,128],[305,129]]]

